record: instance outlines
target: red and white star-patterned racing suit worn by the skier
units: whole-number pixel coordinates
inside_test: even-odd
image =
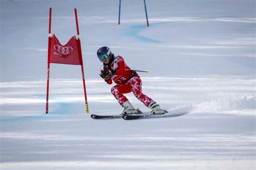
[[[117,84],[111,88],[111,93],[117,99],[118,103],[122,106],[128,101],[123,94],[133,92],[137,99],[142,101],[145,106],[149,106],[153,100],[142,93],[142,80],[135,71],[129,71],[131,69],[126,65],[123,57],[114,57],[110,66],[116,72],[112,78],[107,81],[107,84],[112,84],[112,81]],[[103,70],[104,65],[101,71]]]

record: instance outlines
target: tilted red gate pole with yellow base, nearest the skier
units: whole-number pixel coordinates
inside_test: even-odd
[[[76,25],[77,25],[77,37],[78,37],[78,47],[79,47],[79,52],[80,52],[80,62],[81,64],[81,70],[82,70],[82,77],[83,77],[83,85],[84,85],[84,99],[85,99],[85,108],[86,108],[86,113],[89,113],[89,106],[87,102],[87,95],[86,95],[86,87],[85,87],[85,78],[84,78],[84,66],[83,66],[83,59],[82,59],[82,48],[81,48],[81,43],[79,39],[79,27],[78,27],[78,19],[77,19],[77,9],[75,8],[75,17],[76,17]]]

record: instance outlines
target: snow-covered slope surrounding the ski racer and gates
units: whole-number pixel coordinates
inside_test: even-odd
[[[0,169],[255,169],[255,1],[1,0]],[[90,114],[123,108],[99,77],[100,46],[139,73],[171,118],[93,120],[80,66],[51,64],[77,8]],[[133,94],[131,103],[149,112]]]

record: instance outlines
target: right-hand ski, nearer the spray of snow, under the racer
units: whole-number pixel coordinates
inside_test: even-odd
[[[169,117],[178,117],[181,115],[187,114],[182,113],[165,113],[165,114],[147,114],[147,115],[122,115],[124,120],[137,120],[137,119],[152,119],[152,118],[169,118]]]

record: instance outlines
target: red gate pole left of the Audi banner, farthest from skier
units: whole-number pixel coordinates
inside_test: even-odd
[[[48,100],[49,100],[49,79],[50,79],[50,46],[51,46],[51,8],[49,12],[49,36],[48,36],[48,66],[47,66],[47,87],[46,87],[46,108],[45,108],[45,113],[48,114]]]

